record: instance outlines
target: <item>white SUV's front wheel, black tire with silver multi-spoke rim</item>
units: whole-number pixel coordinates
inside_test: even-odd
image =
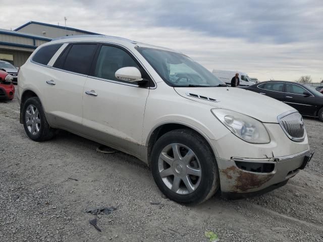
[[[199,204],[220,187],[219,170],[206,141],[194,131],[161,136],[151,152],[151,172],[162,193],[182,204]]]

